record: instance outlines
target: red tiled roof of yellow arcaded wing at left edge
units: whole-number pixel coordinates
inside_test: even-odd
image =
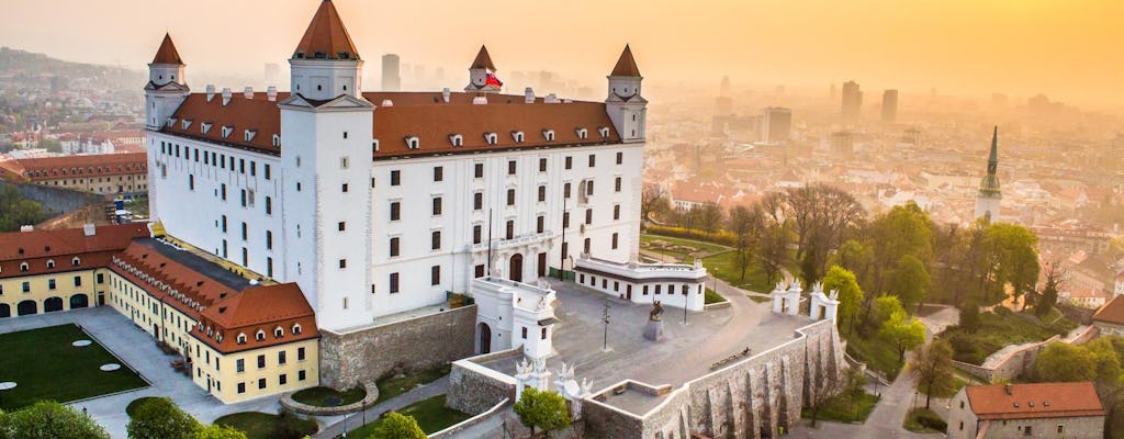
[[[108,267],[133,238],[148,235],[143,223],[100,226],[92,236],[81,228],[0,234],[0,278]],[[78,266],[72,264],[75,256]],[[47,268],[47,260],[54,260],[54,268]],[[24,263],[26,272],[19,269]]]

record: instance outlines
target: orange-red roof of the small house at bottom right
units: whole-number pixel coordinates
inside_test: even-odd
[[[1090,382],[970,385],[964,392],[984,420],[1105,415]]]

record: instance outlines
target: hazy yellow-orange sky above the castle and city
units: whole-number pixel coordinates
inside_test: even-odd
[[[717,88],[728,74],[735,84],[826,93],[831,82],[853,79],[871,97],[936,88],[1124,106],[1121,0],[335,2],[368,68],[398,53],[404,63],[455,66],[446,71],[454,89],[466,83],[459,68],[481,43],[500,77],[551,70],[597,86],[631,43],[644,76],[661,84]],[[291,55],[318,3],[0,0],[0,45],[143,67],[167,30],[189,81],[192,71],[260,75],[264,63]]]

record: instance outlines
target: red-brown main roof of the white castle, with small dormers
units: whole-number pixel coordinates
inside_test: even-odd
[[[289,93],[278,93],[283,100]],[[564,145],[616,144],[620,141],[605,104],[600,102],[545,103],[542,98],[535,103],[524,103],[523,95],[491,94],[487,104],[472,104],[474,93],[450,93],[446,103],[441,92],[371,92],[363,98],[378,106],[372,117],[373,135],[379,139],[379,152],[374,157],[401,155],[447,154],[484,149],[509,149]],[[392,106],[383,106],[390,100]],[[223,106],[223,98],[216,94],[207,102],[206,93],[192,93],[172,116],[171,126],[163,132],[221,143],[268,154],[279,154],[273,146],[273,135],[280,134],[281,112],[277,102],[271,102],[264,93],[255,93],[246,99],[242,93],[233,93],[230,102]],[[183,120],[191,120],[183,128]],[[203,134],[200,125],[211,124]],[[224,138],[221,127],[233,126],[234,131]],[[578,128],[586,128],[587,138],[578,137]],[[601,138],[598,130],[608,128],[608,137]],[[251,141],[245,141],[243,131],[256,130]],[[554,141],[547,141],[543,130],[554,130]],[[513,131],[523,131],[524,141],[517,144]],[[497,144],[488,145],[484,132],[496,132]],[[454,147],[450,136],[463,136],[463,146]],[[417,136],[420,147],[409,149],[406,137]],[[284,139],[281,139],[282,145]]]

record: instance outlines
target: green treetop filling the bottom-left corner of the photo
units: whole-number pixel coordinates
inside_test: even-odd
[[[0,438],[109,439],[109,433],[89,415],[54,401],[39,401],[0,414]]]

